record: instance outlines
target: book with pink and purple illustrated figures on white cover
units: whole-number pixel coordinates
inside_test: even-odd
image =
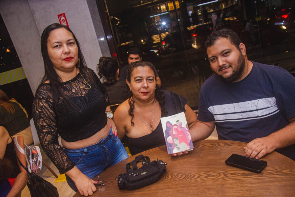
[[[184,112],[161,118],[168,154],[194,148]]]

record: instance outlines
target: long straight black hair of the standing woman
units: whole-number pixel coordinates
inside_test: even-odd
[[[62,99],[65,100],[65,105],[68,105],[69,107],[71,106],[71,107],[74,107],[75,109],[77,109],[76,106],[63,93],[62,90],[64,89],[64,86],[61,85],[62,81],[61,81],[60,77],[58,76],[58,74],[56,73],[55,69],[53,68],[53,64],[52,64],[52,62],[49,58],[49,55],[48,55],[47,41],[48,41],[48,37],[50,35],[50,32],[52,32],[53,30],[59,29],[59,28],[65,28],[66,30],[71,32],[74,39],[75,39],[76,45],[78,47],[78,62],[76,64],[76,67],[87,67],[85,64],[84,56],[83,56],[81,48],[80,48],[80,44],[79,44],[76,36],[71,31],[71,29],[66,25],[60,25],[59,23],[53,23],[51,25],[48,25],[43,30],[42,35],[41,35],[41,54],[43,57],[44,68],[45,68],[45,74],[42,78],[41,83],[49,81],[50,86],[51,86],[51,93],[53,96],[53,102],[55,105],[58,103],[58,101],[60,100],[60,97],[61,97]]]

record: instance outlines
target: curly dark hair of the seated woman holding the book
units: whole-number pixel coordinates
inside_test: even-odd
[[[133,62],[131,65],[129,65],[128,69],[127,69],[127,81],[130,83],[131,82],[131,74],[132,74],[132,71],[134,68],[138,67],[138,66],[149,66],[152,71],[154,72],[155,76],[156,76],[156,69],[155,69],[155,66],[148,62],[148,61],[136,61],[136,62]],[[133,97],[133,94],[132,94],[132,91],[130,90],[129,86],[127,86],[127,89],[126,89],[126,93],[127,95],[129,96],[129,99],[128,99],[128,103],[129,103],[129,115],[131,116],[131,125],[133,126],[134,125],[134,122],[133,121],[133,118],[134,118],[134,114],[133,114],[133,110],[134,110],[134,100],[132,99]],[[160,107],[161,107],[161,116],[166,116],[167,115],[167,110],[165,109],[165,96],[164,96],[164,93],[162,91],[162,89],[160,88],[160,86],[158,86],[156,84],[156,89],[155,89],[155,99],[159,102],[160,104]]]

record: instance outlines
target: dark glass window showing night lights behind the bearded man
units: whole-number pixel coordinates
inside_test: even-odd
[[[118,58],[129,48],[159,71],[163,86],[198,105],[201,84],[211,74],[204,41],[229,28],[247,47],[248,59],[294,65],[295,12],[292,0],[111,0],[106,2]],[[116,20],[114,19],[116,17]]]

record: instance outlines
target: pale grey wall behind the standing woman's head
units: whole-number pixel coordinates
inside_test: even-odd
[[[59,23],[58,14],[65,13],[89,68],[110,56],[95,0],[1,0],[0,13],[34,94],[44,75],[41,34]]]

